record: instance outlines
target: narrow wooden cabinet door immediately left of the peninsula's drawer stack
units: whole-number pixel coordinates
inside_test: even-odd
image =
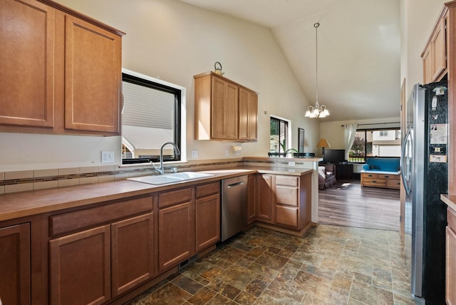
[[[257,176],[257,217],[261,220],[273,221],[273,193],[272,193],[272,176]]]

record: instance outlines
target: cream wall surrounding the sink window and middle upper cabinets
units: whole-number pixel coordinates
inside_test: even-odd
[[[291,120],[292,147],[297,128],[305,130],[306,151],[318,142],[318,120],[304,118],[309,102],[269,29],[176,0],[57,2],[125,31],[123,68],[187,88],[187,155],[199,150],[202,160],[224,158],[234,145],[193,140],[193,76],[214,70],[215,61],[224,76],[259,93],[258,143],[240,144],[236,157],[267,155],[269,115]],[[0,141],[0,172],[100,165],[102,149],[114,150],[120,164],[119,137],[0,133]]]

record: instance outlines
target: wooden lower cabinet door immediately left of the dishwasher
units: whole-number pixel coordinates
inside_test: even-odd
[[[196,250],[215,244],[220,240],[220,195],[196,200]]]

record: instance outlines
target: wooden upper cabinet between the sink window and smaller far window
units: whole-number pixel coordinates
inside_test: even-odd
[[[213,72],[195,78],[195,140],[256,141],[258,95]]]

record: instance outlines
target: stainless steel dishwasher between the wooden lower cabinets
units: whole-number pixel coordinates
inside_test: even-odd
[[[247,226],[247,176],[222,180],[222,242]]]

